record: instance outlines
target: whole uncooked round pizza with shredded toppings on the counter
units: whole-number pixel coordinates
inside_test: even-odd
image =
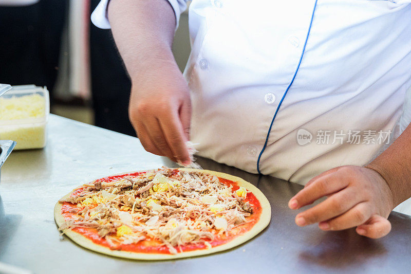
[[[269,224],[271,208],[239,177],[163,167],[84,184],[59,200],[54,217],[59,230],[85,248],[164,260],[240,245]]]

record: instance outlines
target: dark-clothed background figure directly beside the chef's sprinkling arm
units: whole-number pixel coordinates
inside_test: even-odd
[[[99,3],[91,1],[91,10]],[[95,125],[136,136],[128,119],[131,82],[110,30],[90,26],[90,69]]]

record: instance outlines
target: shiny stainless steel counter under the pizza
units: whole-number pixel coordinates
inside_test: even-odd
[[[205,169],[245,178],[267,196],[271,223],[249,242],[217,254],[191,259],[144,262],[88,251],[60,240],[53,219],[57,200],[97,177],[171,166],[147,153],[138,139],[51,115],[43,150],[14,151],[0,184],[0,261],[34,273],[268,273],[409,272],[411,218],[390,215],[391,233],[380,240],[353,229],[323,232],[299,228],[288,199],[296,184],[198,159]]]

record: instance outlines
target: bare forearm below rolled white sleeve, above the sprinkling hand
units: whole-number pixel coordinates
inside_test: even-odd
[[[108,20],[132,81],[156,62],[175,63],[171,47],[176,19],[164,0],[111,0]]]

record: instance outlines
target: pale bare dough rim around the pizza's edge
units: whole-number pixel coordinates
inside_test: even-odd
[[[210,171],[210,170],[196,170],[196,169],[185,169],[180,168],[178,170],[181,171],[190,171],[190,172],[200,172],[200,173],[207,173],[211,175],[216,175],[220,178],[228,179],[234,182],[237,182],[238,186],[244,187],[247,191],[254,194],[254,196],[258,199],[260,206],[261,206],[261,214],[259,216],[258,222],[247,232],[237,236],[236,238],[232,239],[228,243],[221,244],[210,249],[198,249],[193,251],[184,251],[179,252],[177,254],[162,254],[162,253],[137,253],[137,252],[129,252],[123,250],[112,250],[109,247],[105,247],[103,245],[96,244],[91,240],[87,239],[80,233],[74,232],[72,230],[65,231],[65,234],[75,243],[79,244],[82,247],[87,249],[104,253],[107,255],[127,258],[127,259],[137,259],[137,260],[170,260],[170,259],[178,259],[178,258],[185,258],[185,257],[195,257],[199,255],[205,255],[210,253],[215,253],[223,250],[227,250],[233,248],[235,246],[241,245],[242,243],[247,242],[248,240],[252,239],[256,236],[259,232],[261,232],[264,228],[268,226],[271,219],[271,206],[268,202],[268,199],[264,196],[264,194],[256,188],[254,185],[250,184],[249,182],[245,181],[236,176],[232,176],[226,173]],[[127,173],[123,173],[127,174]],[[117,174],[122,175],[122,174]],[[73,190],[74,191],[74,190]],[[63,198],[67,198],[73,192],[66,194]],[[64,216],[61,213],[62,211],[62,204],[57,203],[54,207],[54,219],[57,225],[60,227],[65,223]]]

